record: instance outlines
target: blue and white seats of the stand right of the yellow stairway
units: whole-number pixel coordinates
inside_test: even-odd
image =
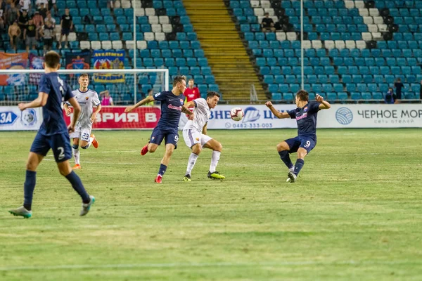
[[[273,100],[300,89],[300,1],[226,2]],[[378,100],[397,78],[402,98],[420,98],[422,1],[304,1],[304,79],[311,97]],[[263,33],[269,13],[278,30]]]

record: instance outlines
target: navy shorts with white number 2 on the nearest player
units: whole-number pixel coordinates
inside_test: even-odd
[[[72,158],[68,133],[57,133],[51,136],[44,136],[41,133],[37,133],[37,136],[35,136],[32,142],[30,152],[46,156],[50,148],[53,150],[54,159],[58,163]]]

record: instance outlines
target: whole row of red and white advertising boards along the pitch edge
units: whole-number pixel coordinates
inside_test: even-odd
[[[240,122],[230,118],[232,107],[242,107],[245,117]],[[274,105],[277,110],[293,110],[295,105]],[[160,117],[158,107],[138,107],[124,112],[125,107],[103,107],[97,115],[94,130],[153,129]],[[65,116],[66,122],[70,117]],[[0,131],[38,130],[41,108],[20,112],[18,107],[0,107]],[[331,105],[318,114],[318,128],[422,128],[422,105]],[[208,129],[283,129],[296,128],[294,119],[277,119],[265,105],[218,105],[212,110]]]

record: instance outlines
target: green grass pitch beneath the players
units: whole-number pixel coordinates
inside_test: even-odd
[[[30,219],[7,210],[35,132],[0,133],[0,280],[422,280],[420,129],[321,129],[294,184],[275,147],[295,130],[209,131],[224,181],[210,150],[182,181],[181,138],[161,185],[163,148],[139,154],[151,131],[95,133],[77,171],[91,212],[50,152]]]

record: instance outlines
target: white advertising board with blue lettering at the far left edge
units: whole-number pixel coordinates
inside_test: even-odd
[[[41,124],[41,107],[21,112],[18,106],[0,106],[0,131],[38,130]]]

